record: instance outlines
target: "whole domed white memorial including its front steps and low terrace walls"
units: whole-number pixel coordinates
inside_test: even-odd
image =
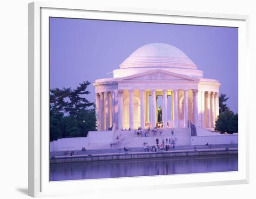
[[[237,143],[237,134],[214,132],[221,84],[175,46],[144,45],[113,74],[94,83],[97,131],[52,141],[50,151]]]

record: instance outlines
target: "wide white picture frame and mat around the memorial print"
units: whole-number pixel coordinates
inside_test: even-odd
[[[49,182],[49,17],[238,27],[238,171]],[[249,16],[142,8],[88,7],[33,2],[28,5],[28,194],[44,197],[96,192],[169,189],[249,183]],[[196,178],[191,178],[196,175]],[[154,178],[154,180],[152,180]],[[72,189],[70,189],[72,187]]]

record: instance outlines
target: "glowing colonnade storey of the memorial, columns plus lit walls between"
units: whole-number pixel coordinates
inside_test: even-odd
[[[191,121],[195,126],[210,128],[214,127],[216,116],[218,116],[218,109],[216,109],[216,104],[218,104],[218,93],[212,92],[211,103],[206,103],[206,109],[202,109],[202,113],[198,114],[198,90],[157,90],[158,95],[156,95],[156,90],[116,90],[118,92],[118,100],[115,100],[115,96],[113,96],[114,92],[104,93],[106,102],[103,106],[105,110],[96,109],[97,118],[103,118],[101,122],[101,126],[103,127],[101,130],[107,130],[109,127],[113,125],[114,122],[118,122],[119,129],[121,128],[148,128],[156,126],[156,96],[162,96],[163,106],[162,106],[162,123],[164,128],[187,128],[189,125],[189,121]],[[128,96],[127,96],[128,93]],[[134,95],[135,93],[135,95]],[[176,94],[175,94],[176,93]],[[208,91],[200,92],[200,94],[206,96],[207,102],[208,99]],[[206,93],[206,94],[204,94]],[[97,93],[97,96],[100,94]],[[101,94],[103,98],[103,93]],[[176,96],[175,96],[176,95]],[[107,96],[107,98],[106,98]],[[147,99],[145,98],[147,97]],[[173,97],[174,96],[174,97]],[[179,100],[178,100],[179,96]],[[114,98],[112,103],[109,103],[109,97]],[[149,104],[149,97],[151,97],[151,103]],[[167,104],[167,98],[171,97],[176,100],[171,101],[170,104]],[[201,97],[201,96],[200,96]],[[216,100],[216,101],[215,101]],[[178,103],[179,101],[179,103]],[[190,103],[189,103],[190,101]],[[96,107],[101,104],[97,103]],[[120,103],[119,103],[120,102]],[[126,103],[123,106],[123,103]],[[191,103],[192,102],[192,103]],[[118,103],[118,109],[115,109],[115,104]],[[180,106],[180,107],[179,107]],[[172,108],[173,107],[173,108]],[[209,107],[209,108],[208,108]],[[109,111],[111,110],[111,111]],[[123,111],[127,111],[123,113]],[[120,111],[119,114],[118,111]],[[149,114],[151,111],[152,115]],[[105,113],[105,114],[104,114]],[[111,113],[111,116],[110,116]],[[168,118],[168,115],[173,116]],[[114,118],[117,116],[118,118]],[[205,117],[206,115],[206,117]],[[100,117],[99,117],[100,116]],[[150,116],[150,117],[149,117]],[[200,117],[200,123],[198,123],[198,117]],[[203,118],[205,117],[205,118]],[[205,121],[205,123],[204,123]]]

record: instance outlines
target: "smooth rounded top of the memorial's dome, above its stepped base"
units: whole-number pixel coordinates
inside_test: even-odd
[[[152,43],[134,51],[120,68],[171,67],[196,69],[197,66],[187,55],[173,45]]]

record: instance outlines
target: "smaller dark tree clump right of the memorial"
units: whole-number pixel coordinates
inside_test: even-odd
[[[219,96],[219,116],[215,123],[215,131],[220,133],[238,133],[238,114],[234,114],[227,105],[226,94]]]

